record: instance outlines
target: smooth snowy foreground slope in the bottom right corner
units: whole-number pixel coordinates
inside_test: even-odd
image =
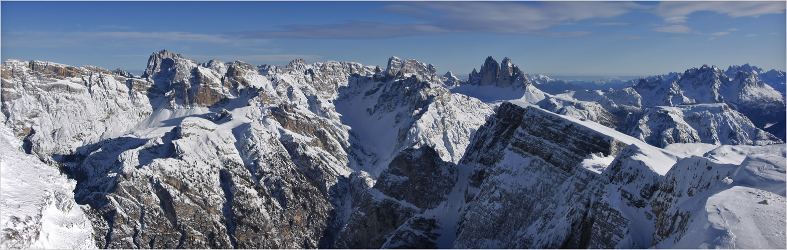
[[[722,146],[706,157],[692,156],[675,164],[652,202],[659,217],[657,248],[785,247],[784,232],[774,231],[785,226],[778,219],[785,217],[787,204],[784,147],[736,160],[740,155],[730,149],[749,151],[743,147]]]

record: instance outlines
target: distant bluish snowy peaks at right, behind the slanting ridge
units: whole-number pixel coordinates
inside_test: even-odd
[[[490,57],[482,68],[495,65]],[[719,68],[704,65],[682,74],[639,79],[618,90],[584,90],[546,75],[531,75],[523,82],[525,87],[483,85],[480,79],[468,79],[468,83],[478,83],[453,86],[451,90],[492,105],[502,101],[538,105],[604,124],[660,147],[675,142],[782,143],[785,98],[750,68],[731,68],[728,73],[735,75],[728,78]],[[477,78],[483,75],[475,74]],[[715,104],[725,104],[726,108],[707,108]]]

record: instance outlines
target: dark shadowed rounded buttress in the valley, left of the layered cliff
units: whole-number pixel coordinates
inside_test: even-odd
[[[435,219],[418,215],[445,201],[456,165],[429,146],[402,150],[365,189],[338,239],[341,248],[435,248]]]

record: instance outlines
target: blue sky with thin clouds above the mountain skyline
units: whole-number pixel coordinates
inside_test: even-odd
[[[785,2],[8,2],[0,55],[139,71],[169,50],[283,65],[388,57],[460,77],[512,58],[548,75],[702,64],[785,70]]]

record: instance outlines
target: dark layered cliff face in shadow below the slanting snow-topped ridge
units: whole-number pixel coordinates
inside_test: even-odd
[[[586,190],[582,186],[598,185],[601,190],[604,178],[578,165],[594,154],[614,157],[624,148],[625,142],[543,109],[501,105],[479,128],[460,163],[472,168],[464,201],[475,205],[465,211],[454,246],[589,247],[593,218],[587,216],[593,209],[590,201],[599,193],[582,194]],[[604,182],[609,182],[606,179]],[[566,191],[567,197],[554,195],[555,190]],[[558,203],[561,199],[564,203]],[[576,210],[578,204],[584,206],[584,212],[559,213],[567,208]],[[541,236],[551,228],[545,224],[565,223],[565,218],[558,219],[563,215],[577,221],[571,222],[574,227],[556,230],[562,236]]]

